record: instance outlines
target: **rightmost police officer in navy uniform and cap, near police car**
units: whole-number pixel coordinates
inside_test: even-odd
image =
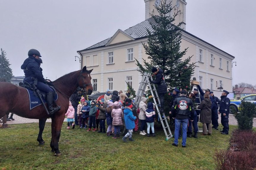
[[[221,96],[220,96],[220,109],[219,114],[221,114],[221,124],[223,126],[223,130],[220,131],[224,135],[228,135],[228,114],[229,114],[229,106],[230,106],[230,100],[227,97],[229,92],[227,90],[223,90]]]

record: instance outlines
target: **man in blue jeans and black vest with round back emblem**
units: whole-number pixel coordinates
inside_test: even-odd
[[[190,116],[190,121],[193,122],[194,116],[194,104],[193,101],[186,97],[187,91],[181,90],[181,97],[176,98],[171,107],[171,113],[173,119],[175,118],[175,130],[174,130],[174,143],[172,145],[178,146],[178,136],[180,125],[182,124],[182,147],[186,147],[187,141],[187,124]],[[177,110],[175,113],[174,110]]]

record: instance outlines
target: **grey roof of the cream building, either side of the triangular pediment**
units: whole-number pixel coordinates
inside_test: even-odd
[[[147,36],[147,29],[149,29],[150,31],[152,31],[152,27],[150,25],[150,22],[152,22],[153,24],[155,23],[155,20],[153,18],[149,18],[139,24],[134,25],[133,27],[130,27],[126,30],[124,30],[124,32],[128,35],[130,35],[132,38],[134,39],[139,39],[139,38],[143,38]],[[106,40],[103,40],[97,44],[94,44],[93,46],[90,46],[88,48],[85,48],[83,50],[79,50],[79,51],[86,51],[86,50],[90,50],[93,48],[98,48],[98,47],[103,47],[105,46],[108,41],[111,39],[112,37],[107,38]],[[77,52],[79,52],[77,51]]]

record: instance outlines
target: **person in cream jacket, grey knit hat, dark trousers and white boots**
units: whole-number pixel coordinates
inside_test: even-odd
[[[139,120],[141,122],[140,126],[140,135],[146,135],[146,115],[145,111],[147,110],[147,98],[141,97],[141,101],[139,103]]]

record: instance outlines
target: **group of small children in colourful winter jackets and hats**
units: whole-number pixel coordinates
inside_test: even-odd
[[[90,103],[89,103],[90,102]],[[141,109],[141,108],[140,108]],[[125,101],[119,100],[113,102],[112,100],[108,100],[107,102],[102,103],[101,101],[85,101],[85,98],[81,98],[80,103],[77,106],[77,113],[75,113],[74,108],[69,101],[69,109],[67,111],[66,118],[68,122],[67,129],[74,129],[74,114],[77,114],[79,120],[80,128],[86,129],[88,124],[89,128],[87,131],[95,132],[98,130],[98,133],[106,133],[107,136],[112,136],[112,138],[117,139],[120,138],[120,129],[125,123],[125,128],[127,129],[126,135],[122,138],[124,142],[127,142],[127,138],[130,141],[134,141],[132,139],[132,132],[135,128],[135,120],[136,116],[133,114],[134,105],[132,104],[131,99],[127,98]],[[147,105],[147,109],[140,112],[146,118],[147,122],[147,134],[150,136],[150,127],[154,135],[154,118],[155,111],[153,109],[153,103],[149,102]],[[97,120],[97,121],[96,121]],[[105,120],[107,122],[107,131],[105,127]],[[124,121],[124,122],[123,122]],[[99,129],[96,129],[96,125]],[[93,129],[92,129],[93,127]],[[113,134],[114,132],[114,134]]]

